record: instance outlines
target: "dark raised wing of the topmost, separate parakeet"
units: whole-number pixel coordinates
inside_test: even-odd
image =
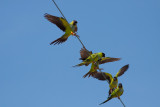
[[[44,14],[44,17],[50,21],[51,23],[55,24],[59,27],[62,31],[66,30],[66,26],[68,26],[68,22],[62,17],[52,16],[50,14]]]

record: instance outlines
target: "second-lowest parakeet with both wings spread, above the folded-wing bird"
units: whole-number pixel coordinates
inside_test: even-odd
[[[109,83],[109,95],[112,93],[114,88],[117,88],[118,85],[118,77],[124,74],[125,71],[129,68],[129,64],[123,66],[115,75],[115,77],[112,77],[111,74],[106,73],[106,72],[97,72],[93,77],[98,79],[98,80],[107,80]]]

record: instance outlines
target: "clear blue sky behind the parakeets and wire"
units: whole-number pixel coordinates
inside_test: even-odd
[[[88,50],[120,57],[100,65],[119,78],[126,107],[160,106],[160,1],[56,0],[68,21],[78,21],[78,35]],[[0,107],[99,107],[108,84],[82,78],[90,69],[80,63],[81,44],[44,18],[61,16],[51,0],[0,1]],[[102,107],[123,107],[113,99]]]

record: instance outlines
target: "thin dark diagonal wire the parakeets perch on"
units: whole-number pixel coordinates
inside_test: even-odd
[[[63,16],[63,18],[67,21],[66,17],[64,16],[64,14],[62,13],[62,11],[60,10],[60,8],[58,7],[58,5],[56,4],[56,2],[54,0],[52,0],[53,3],[55,4],[55,6],[57,7],[57,9],[59,10],[59,12],[61,13],[61,15]],[[69,24],[69,22],[67,21],[67,23]],[[79,40],[79,42],[82,44],[83,48],[86,49],[86,47],[84,46],[83,42],[80,40],[80,38],[78,37],[78,35],[76,35],[77,39]],[[87,49],[86,49],[87,50]],[[89,54],[89,52],[88,52]],[[92,61],[94,62],[92,56],[89,54],[89,56],[91,57]],[[94,62],[95,63],[95,62]],[[99,71],[102,73],[101,69],[99,69]],[[105,77],[105,75],[102,73],[103,77],[106,79],[107,81],[107,78]],[[108,81],[107,81],[108,82]],[[109,83],[109,82],[108,82]],[[123,104],[123,106],[125,107],[123,101],[121,99],[119,99],[121,101],[121,103]]]

